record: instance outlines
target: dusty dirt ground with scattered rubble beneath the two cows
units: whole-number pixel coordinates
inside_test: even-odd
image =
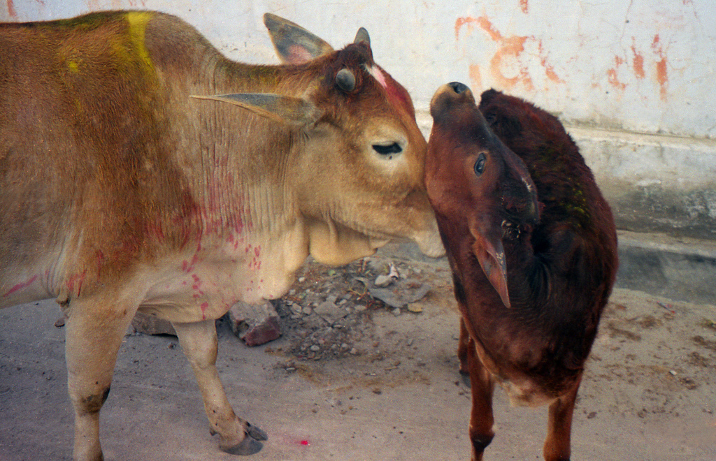
[[[369,288],[425,297],[396,308]],[[375,293],[374,293],[375,294]],[[405,299],[403,299],[405,300]],[[413,299],[408,299],[413,300]],[[398,303],[400,304],[400,302]],[[391,244],[309,264],[279,302],[284,335],[246,347],[218,322],[234,409],[269,433],[262,460],[468,460],[470,389],[445,259]],[[0,461],[69,460],[64,330],[52,301],[0,311]],[[716,307],[616,289],[581,386],[573,460],[716,460]],[[540,460],[546,408],[495,398],[486,460]],[[128,334],[102,410],[105,459],[230,460],[208,432],[177,339]]]

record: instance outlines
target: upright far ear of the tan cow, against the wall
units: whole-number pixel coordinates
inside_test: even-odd
[[[263,24],[269,29],[276,54],[284,64],[303,64],[333,52],[333,47],[323,39],[275,14],[264,14]]]

